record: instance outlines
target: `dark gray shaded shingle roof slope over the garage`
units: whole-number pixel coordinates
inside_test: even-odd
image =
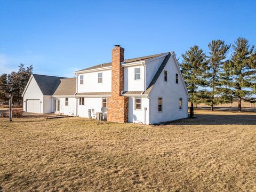
[[[52,95],[61,83],[60,79],[66,78],[38,74],[33,76],[43,95]]]

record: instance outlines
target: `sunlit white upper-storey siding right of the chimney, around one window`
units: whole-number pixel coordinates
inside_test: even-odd
[[[140,79],[134,79],[134,69],[140,68]],[[143,91],[145,81],[145,67],[142,65],[124,67],[124,91]]]

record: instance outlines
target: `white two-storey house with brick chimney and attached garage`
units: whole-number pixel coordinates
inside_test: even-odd
[[[143,124],[188,116],[189,94],[173,52],[125,60],[124,49],[116,45],[112,62],[75,75],[33,74],[22,95],[23,110],[92,117],[107,107],[107,121]]]

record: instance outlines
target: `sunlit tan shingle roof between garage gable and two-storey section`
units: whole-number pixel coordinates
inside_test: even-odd
[[[76,93],[76,77],[60,79],[60,84],[53,95],[74,95]]]

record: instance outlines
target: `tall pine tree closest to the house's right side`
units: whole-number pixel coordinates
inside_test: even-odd
[[[203,78],[204,71],[207,67],[206,54],[195,45],[190,47],[190,49],[181,56],[183,61],[180,63],[180,67],[190,96],[190,117],[193,117],[194,103],[200,100],[198,88],[206,84]]]

